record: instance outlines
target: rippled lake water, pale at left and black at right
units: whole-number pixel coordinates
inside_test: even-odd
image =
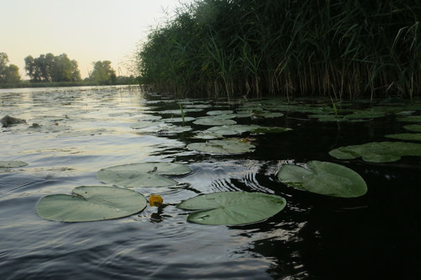
[[[189,102],[201,101],[184,108]],[[224,102],[200,104],[205,108],[188,116],[232,109]],[[0,117],[28,121],[1,128],[0,160],[29,163],[0,172],[1,279],[419,279],[421,159],[366,163],[328,154],[403,132],[393,116],[340,126],[300,113],[271,121],[238,119],[293,130],[255,136],[252,153],[210,155],[186,149],[201,141],[193,138],[195,130],[206,127],[189,123],[192,131],[177,134],[129,128],[163,110],[179,107],[127,88],[0,91]],[[67,129],[28,130],[32,123],[56,122]],[[282,163],[310,160],[352,168],[369,191],[338,199],[293,190],[275,179]],[[41,197],[101,185],[99,169],[142,161],[176,161],[193,170],[176,178],[177,186],[136,189],[146,197],[160,194],[165,208],[148,206],[130,217],[85,223],[37,215]],[[197,194],[233,190],[278,194],[288,205],[266,221],[235,227],[188,223],[188,212],[175,208]]]

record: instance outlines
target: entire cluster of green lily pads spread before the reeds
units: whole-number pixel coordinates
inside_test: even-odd
[[[206,105],[197,108],[166,110],[161,114],[181,114],[182,117],[161,119],[150,116],[130,125],[130,128],[146,132],[185,132],[190,126],[175,126],[174,123],[193,122],[199,126],[210,126],[199,133],[205,142],[189,143],[186,148],[210,154],[240,154],[253,152],[255,146],[238,136],[250,134],[287,132],[291,128],[240,125],[233,119],[282,117],[284,112],[306,112],[310,118],[320,121],[366,121],[384,117],[386,113],[397,114],[398,121],[421,122],[421,116],[411,116],[418,105],[407,110],[379,106],[370,110],[347,110],[350,104],[330,106],[302,106],[301,104],[280,104],[276,102],[247,103],[232,110],[213,110],[206,117],[186,117],[186,112],[199,112]],[[340,106],[341,105],[341,106]],[[180,107],[181,108],[181,107]],[[345,108],[345,109],[343,109]],[[403,116],[403,117],[402,117]],[[421,132],[421,125],[404,126],[413,132]],[[403,140],[421,140],[421,133],[388,134],[386,137]],[[402,156],[421,156],[420,143],[371,142],[362,145],[344,146],[331,150],[329,154],[337,159],[356,159],[364,161],[391,162]],[[53,194],[40,199],[37,203],[39,216],[53,221],[96,221],[126,217],[146,208],[143,194],[129,188],[173,186],[177,181],[168,176],[190,173],[192,170],[181,163],[132,163],[104,168],[97,172],[97,179],[110,186],[81,186],[72,195]],[[360,174],[337,163],[309,161],[307,163],[285,164],[277,172],[277,179],[286,186],[322,194],[330,197],[353,198],[366,194],[366,182]],[[177,204],[177,208],[196,210],[188,215],[188,221],[209,225],[241,225],[268,219],[283,210],[286,200],[275,194],[260,192],[216,192],[201,194]]]

